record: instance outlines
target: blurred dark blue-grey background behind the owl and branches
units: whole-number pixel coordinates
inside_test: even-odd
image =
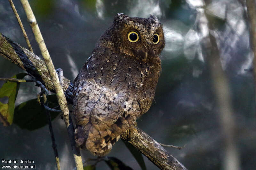
[[[40,50],[28,25],[20,1],[13,0],[34,53]],[[116,13],[131,17],[157,16],[164,26],[166,46],[160,58],[162,74],[155,102],[138,122],[138,127],[156,141],[186,147],[166,148],[188,169],[225,169],[225,136],[222,135],[219,108],[212,85],[211,69],[205,64],[197,26],[202,10],[211,14],[221,65],[228,80],[232,116],[235,120],[234,143],[240,169],[256,167],[255,92],[251,68],[246,9],[238,0],[212,0],[203,6],[200,0],[30,0],[44,41],[55,68],[73,80],[91,55],[100,35],[112,24]],[[26,47],[18,22],[8,1],[0,2],[0,33]],[[0,57],[0,77],[23,72]],[[0,86],[3,85],[0,82]],[[33,83],[21,84],[16,104],[36,98],[40,89]],[[53,122],[62,169],[75,167],[65,123],[58,116]],[[0,125],[0,159],[30,159],[36,169],[55,169],[55,158],[48,127],[28,131],[15,124]],[[96,158],[82,151],[82,159]],[[122,141],[108,156],[122,160],[133,169],[140,166]],[[144,157],[148,170],[157,169]],[[108,169],[104,162],[96,169]]]

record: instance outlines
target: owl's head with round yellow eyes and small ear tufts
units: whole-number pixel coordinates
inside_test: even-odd
[[[163,26],[153,15],[132,18],[118,13],[103,36],[121,53],[144,62],[158,57],[164,48]]]

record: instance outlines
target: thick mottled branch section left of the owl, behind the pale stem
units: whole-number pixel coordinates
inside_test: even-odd
[[[50,74],[44,61],[30,52],[28,49],[21,47],[14,41],[5,37],[0,33],[0,55],[10,60],[12,63],[18,65],[21,69],[27,71],[34,76],[37,80],[42,82],[47,90],[55,92],[54,86],[51,81]],[[67,78],[63,79],[63,91],[69,103],[72,103],[73,82]]]

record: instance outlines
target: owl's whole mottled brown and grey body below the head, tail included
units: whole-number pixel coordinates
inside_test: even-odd
[[[113,49],[99,47],[75,79],[76,144],[104,155],[136,118],[148,111],[161,71]]]

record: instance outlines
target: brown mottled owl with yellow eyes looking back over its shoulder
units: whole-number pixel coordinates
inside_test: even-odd
[[[159,20],[118,13],[74,80],[75,140],[104,156],[148,111],[161,73],[164,33]]]

